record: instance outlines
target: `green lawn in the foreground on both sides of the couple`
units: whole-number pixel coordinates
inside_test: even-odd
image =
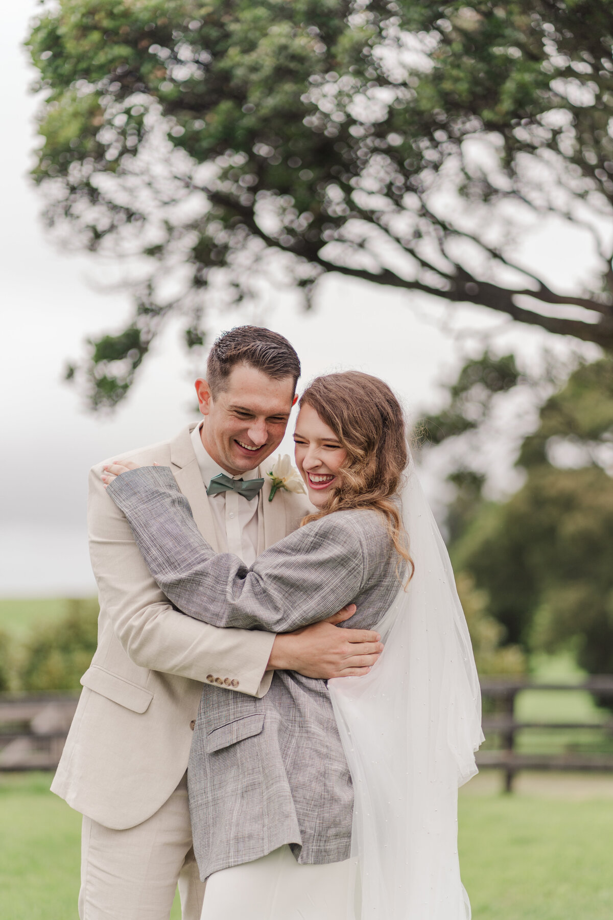
[[[474,920],[609,920],[613,796],[502,796],[491,777],[460,794],[460,859]],[[0,916],[76,920],[80,816],[50,776],[0,776]],[[481,785],[479,785],[481,784]],[[179,920],[178,903],[172,920]],[[246,920],[246,918],[245,918]]]

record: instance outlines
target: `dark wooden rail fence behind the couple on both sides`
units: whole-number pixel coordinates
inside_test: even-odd
[[[483,731],[488,744],[477,755],[481,769],[504,771],[505,789],[511,791],[521,770],[576,770],[613,773],[613,718],[606,722],[522,721],[516,718],[517,695],[524,690],[585,690],[600,700],[613,699],[613,675],[591,677],[583,684],[533,684],[528,680],[487,677],[482,679],[485,703]],[[74,716],[78,696],[0,695],[0,771],[54,770]],[[489,705],[488,705],[489,704]],[[492,710],[491,712],[488,710]],[[595,730],[612,753],[524,753],[517,751],[517,737],[524,730]],[[495,744],[492,748],[491,745]]]

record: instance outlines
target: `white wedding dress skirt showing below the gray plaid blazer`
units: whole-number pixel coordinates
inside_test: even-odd
[[[324,866],[296,862],[288,845],[207,881],[201,920],[354,920],[357,859]]]

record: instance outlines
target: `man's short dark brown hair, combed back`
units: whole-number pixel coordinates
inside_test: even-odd
[[[273,380],[292,377],[294,391],[301,375],[301,362],[288,339],[261,326],[237,326],[215,339],[207,361],[207,381],[215,397],[226,389],[237,364],[248,364]]]

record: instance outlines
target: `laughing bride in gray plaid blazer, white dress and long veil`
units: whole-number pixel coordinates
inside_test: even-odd
[[[187,779],[202,920],[465,920],[457,793],[479,684],[402,408],[369,374],[318,377],[294,441],[315,510],[251,568],[214,553],[169,469],[103,475],[185,614],[283,632],[353,602],[346,624],[386,643],[366,677],[276,672],[261,699],[205,684]]]

